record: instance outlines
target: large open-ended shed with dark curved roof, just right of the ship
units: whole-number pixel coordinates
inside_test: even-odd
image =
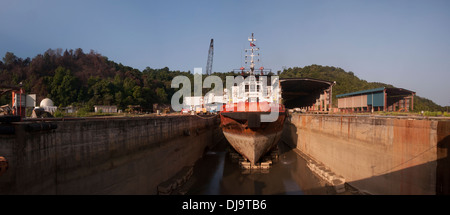
[[[329,111],[334,81],[313,78],[280,78],[281,97],[286,108]]]

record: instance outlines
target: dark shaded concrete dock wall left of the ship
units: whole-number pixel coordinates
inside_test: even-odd
[[[217,133],[198,116],[53,121],[30,131],[16,123],[1,135],[8,170],[0,194],[156,194],[159,183],[193,165]]]

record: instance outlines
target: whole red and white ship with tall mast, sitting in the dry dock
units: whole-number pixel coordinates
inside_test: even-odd
[[[230,145],[256,164],[280,140],[286,111],[281,104],[278,76],[264,67],[255,69],[259,48],[253,33],[248,41],[250,48],[245,49],[245,63],[249,67],[237,70],[235,84],[225,89],[227,101],[222,106],[220,119]]]

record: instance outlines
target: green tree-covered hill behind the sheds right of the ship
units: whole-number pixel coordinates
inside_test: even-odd
[[[285,69],[281,74],[281,78],[315,78],[328,81],[336,81],[336,85],[333,87],[333,104],[337,106],[336,95],[350,93],[360,90],[368,90],[379,87],[395,87],[390,84],[379,82],[368,82],[366,80],[359,79],[353,72],[346,72],[341,68],[332,66],[320,66],[310,65],[301,67],[294,67]],[[417,93],[417,92],[416,92]],[[420,92],[418,93],[420,94]],[[414,97],[414,110],[415,111],[444,111],[444,107],[437,105],[433,101],[420,97]]]

